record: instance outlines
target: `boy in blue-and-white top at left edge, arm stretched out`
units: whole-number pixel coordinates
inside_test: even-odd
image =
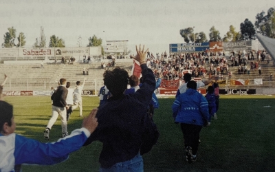
[[[21,164],[52,165],[80,149],[98,126],[97,109],[83,120],[83,127],[57,142],[41,143],[14,133],[13,107],[0,100],[0,171],[20,171]],[[64,146],[65,145],[65,146]]]

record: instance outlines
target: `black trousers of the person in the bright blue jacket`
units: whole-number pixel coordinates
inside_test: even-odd
[[[192,147],[192,154],[196,155],[199,148],[199,133],[202,126],[181,123],[181,131],[184,134],[184,146]]]

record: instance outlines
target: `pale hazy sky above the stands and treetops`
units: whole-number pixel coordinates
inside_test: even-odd
[[[47,45],[54,34],[66,47],[78,46],[79,36],[87,46],[96,35],[103,45],[128,40],[132,52],[144,44],[150,52],[162,53],[169,52],[170,43],[184,43],[181,29],[195,27],[208,36],[214,26],[223,38],[230,25],[239,31],[245,19],[254,23],[256,14],[267,14],[269,8],[275,8],[274,0],[1,0],[0,35],[14,27],[17,36],[25,34],[25,47],[32,47],[42,26]]]

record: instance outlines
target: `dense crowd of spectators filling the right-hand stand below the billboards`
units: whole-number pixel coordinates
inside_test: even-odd
[[[231,78],[232,72],[229,67],[238,67],[238,74],[248,74],[248,70],[258,69],[259,63],[270,61],[270,55],[265,50],[255,52],[251,50],[246,52],[230,52],[230,56],[225,56],[224,52],[166,52],[153,55],[147,54],[147,65],[153,69],[155,76],[162,73],[166,80],[181,79],[183,74],[188,72],[195,78],[211,78],[215,76],[218,79],[225,79],[224,76]],[[255,59],[255,61],[254,61]]]

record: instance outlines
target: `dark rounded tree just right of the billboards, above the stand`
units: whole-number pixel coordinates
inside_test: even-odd
[[[254,34],[256,34],[256,31],[254,29],[254,25],[252,22],[248,19],[245,19],[243,23],[240,25],[241,29],[241,39],[253,39]]]

